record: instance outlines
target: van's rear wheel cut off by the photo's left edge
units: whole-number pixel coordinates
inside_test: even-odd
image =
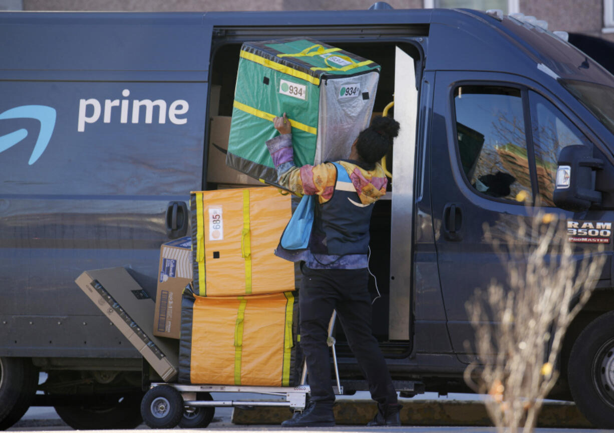
[[[0,358],[0,430],[21,419],[34,400],[38,370],[28,358]]]

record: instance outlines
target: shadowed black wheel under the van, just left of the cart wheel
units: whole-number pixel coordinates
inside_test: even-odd
[[[142,423],[142,394],[128,394],[120,399],[104,399],[96,403],[55,406],[64,423],[75,430],[134,429]]]

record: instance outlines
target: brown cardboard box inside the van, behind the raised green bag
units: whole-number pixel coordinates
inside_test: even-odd
[[[230,116],[215,116],[209,126],[209,162],[207,182],[234,183],[239,185],[262,185],[257,179],[249,177],[226,165]]]

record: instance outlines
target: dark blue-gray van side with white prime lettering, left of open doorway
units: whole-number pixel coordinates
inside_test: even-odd
[[[168,202],[203,188],[211,26],[185,14],[9,15],[0,356],[139,357],[74,279],[126,266],[155,297]]]

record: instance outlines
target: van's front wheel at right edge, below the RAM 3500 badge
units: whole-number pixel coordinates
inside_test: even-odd
[[[573,401],[586,419],[602,429],[614,428],[614,311],[578,335],[567,377]]]

